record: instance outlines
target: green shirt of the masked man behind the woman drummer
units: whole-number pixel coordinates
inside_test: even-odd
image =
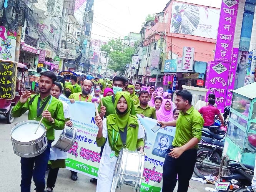
[[[112,95],[101,98],[101,101],[102,101],[103,106],[105,106],[105,108],[106,108],[105,117],[109,116],[110,114],[115,114],[115,111],[114,111],[115,99]],[[131,102],[133,102],[132,99],[131,99]],[[100,113],[100,107],[101,107],[101,103],[99,103],[99,106],[98,106],[99,113]],[[131,104],[131,115],[136,116],[136,112],[135,112],[133,103]]]

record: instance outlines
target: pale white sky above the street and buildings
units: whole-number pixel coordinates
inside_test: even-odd
[[[221,0],[179,0],[209,7],[221,7]],[[91,38],[110,40],[139,33],[148,14],[162,12],[169,0],[95,0]]]

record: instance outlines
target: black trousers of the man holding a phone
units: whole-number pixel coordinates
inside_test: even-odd
[[[173,146],[170,146],[167,153],[170,153]],[[173,192],[179,179],[178,191],[187,192],[189,181],[193,175],[194,165],[196,164],[197,149],[189,149],[178,159],[166,155],[163,165],[163,188],[162,192]]]

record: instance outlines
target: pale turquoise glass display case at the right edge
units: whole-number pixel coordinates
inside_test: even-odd
[[[233,91],[224,155],[244,164],[255,164],[256,82]]]

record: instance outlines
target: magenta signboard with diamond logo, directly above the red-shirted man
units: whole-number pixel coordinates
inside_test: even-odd
[[[220,112],[223,112],[225,108],[229,68],[229,63],[220,63],[217,61],[211,61],[208,63],[208,74],[205,81],[205,88],[209,91],[206,94],[206,101],[210,93],[215,94],[215,102]]]

